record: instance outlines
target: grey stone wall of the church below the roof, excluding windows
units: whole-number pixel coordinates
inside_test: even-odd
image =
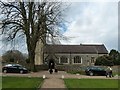
[[[80,56],[81,57],[81,63],[77,63],[79,65],[94,65],[94,63],[91,63],[91,58],[94,57],[94,62],[98,56],[102,56],[104,54],[73,54],[73,53],[64,53],[64,54],[55,54],[57,58],[54,58],[57,64],[60,64],[60,57],[65,56],[68,58],[68,63],[66,64],[76,64],[74,63],[74,57]],[[48,55],[44,54],[44,61],[48,61]]]

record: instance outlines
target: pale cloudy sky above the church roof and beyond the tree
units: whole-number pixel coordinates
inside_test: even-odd
[[[69,41],[61,41],[62,44],[104,44],[108,50],[118,50],[118,2],[113,0],[85,0],[86,2],[70,2],[66,11],[63,26],[63,35]],[[94,1],[94,2],[93,2]],[[1,37],[0,37],[1,39]],[[1,51],[9,49],[0,41]],[[21,43],[20,43],[21,44]],[[17,45],[17,49],[26,52],[24,45]],[[1,54],[0,51],[0,54]]]

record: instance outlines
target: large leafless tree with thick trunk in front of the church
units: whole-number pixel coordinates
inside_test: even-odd
[[[25,0],[26,1],[26,0]],[[39,40],[46,44],[46,34],[54,32],[63,21],[61,2],[0,2],[2,34],[7,40],[25,35],[31,70],[35,70],[35,49]],[[56,36],[59,35],[57,30]]]

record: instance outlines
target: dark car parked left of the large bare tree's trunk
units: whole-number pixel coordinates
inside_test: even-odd
[[[28,73],[28,70],[19,64],[7,64],[2,68],[4,73]]]

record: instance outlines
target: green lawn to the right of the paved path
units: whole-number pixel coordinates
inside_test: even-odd
[[[113,79],[64,79],[64,82],[67,88],[118,88],[118,80]]]

